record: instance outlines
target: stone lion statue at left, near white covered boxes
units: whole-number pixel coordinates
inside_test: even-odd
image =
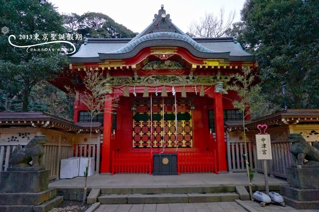
[[[33,162],[33,167],[42,165],[44,155],[43,144],[48,142],[46,136],[34,136],[31,141],[23,148],[18,144],[10,157],[12,167],[29,167],[29,162]]]

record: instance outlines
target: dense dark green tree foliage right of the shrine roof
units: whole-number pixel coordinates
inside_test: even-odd
[[[266,98],[281,108],[319,107],[319,1],[247,0],[241,19],[237,32],[257,54]]]

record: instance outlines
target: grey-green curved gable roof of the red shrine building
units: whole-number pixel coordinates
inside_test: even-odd
[[[255,57],[242,50],[233,37],[190,38],[176,27],[170,15],[163,9],[154,15],[153,22],[133,39],[85,38],[79,51],[70,56],[71,62],[102,62],[106,59],[134,57],[146,47],[177,46],[187,49],[200,58],[226,60],[254,60]]]

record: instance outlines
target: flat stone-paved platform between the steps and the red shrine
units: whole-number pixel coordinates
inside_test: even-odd
[[[269,184],[285,184],[287,181],[269,177]],[[264,175],[254,173],[252,184],[264,184]],[[111,186],[148,186],[148,185],[248,185],[247,173],[192,173],[181,175],[153,176],[149,174],[96,174],[88,177],[89,188],[103,188]],[[60,179],[52,181],[49,187],[82,187],[84,177]]]

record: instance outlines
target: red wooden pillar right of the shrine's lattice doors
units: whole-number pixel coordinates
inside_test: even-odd
[[[227,171],[226,166],[226,145],[224,136],[224,114],[223,114],[223,100],[220,93],[215,93],[214,99],[214,114],[215,114],[215,131],[217,142],[217,161],[218,170]]]

